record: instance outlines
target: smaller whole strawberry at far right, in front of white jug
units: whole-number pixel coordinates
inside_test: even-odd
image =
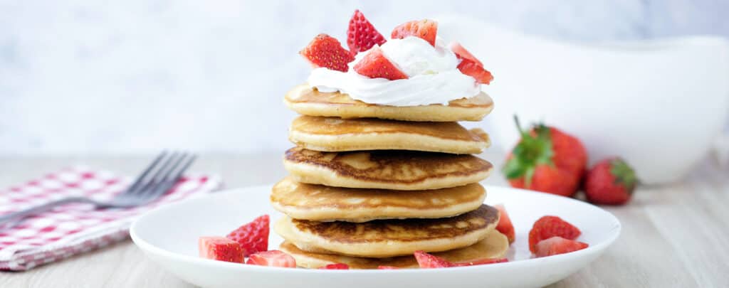
[[[631,199],[636,173],[623,159],[599,161],[585,176],[585,195],[595,204],[622,205]]]

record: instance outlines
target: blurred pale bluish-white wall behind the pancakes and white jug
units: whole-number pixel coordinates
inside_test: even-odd
[[[0,154],[283,151],[297,52],[357,8],[385,35],[459,14],[563,41],[729,36],[729,1],[191,2],[0,0]]]

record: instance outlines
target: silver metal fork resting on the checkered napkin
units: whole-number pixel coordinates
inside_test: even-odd
[[[141,175],[136,177],[132,185],[122,193],[114,196],[110,201],[96,201],[82,196],[67,197],[0,216],[0,227],[6,226],[8,223],[17,224],[25,217],[46,212],[59,205],[69,203],[93,204],[97,208],[128,208],[147,204],[170,190],[193,161],[195,161],[195,155],[193,154],[184,152],[167,153],[164,151],[152,161],[152,164],[144,169]]]

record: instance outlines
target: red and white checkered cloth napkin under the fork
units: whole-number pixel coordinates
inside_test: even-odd
[[[63,169],[0,190],[0,215],[66,196],[111,199],[129,183],[129,177],[108,171],[87,167]],[[200,196],[221,186],[217,176],[189,176],[144,207],[94,209],[89,204],[69,204],[26,218],[15,227],[0,229],[0,270],[28,270],[122,241],[129,236],[129,225],[142,212],[179,199]]]

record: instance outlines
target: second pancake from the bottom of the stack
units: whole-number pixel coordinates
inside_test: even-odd
[[[481,205],[472,212],[438,219],[349,223],[283,217],[274,229],[304,251],[381,258],[467,247],[485,239],[498,222],[499,211]]]

